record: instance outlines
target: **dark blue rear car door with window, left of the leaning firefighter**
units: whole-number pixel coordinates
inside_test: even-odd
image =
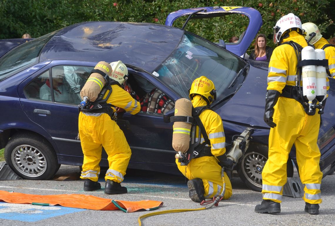
[[[82,158],[76,159],[68,156],[83,156],[80,140],[76,140],[78,135],[77,105],[80,103],[78,90],[80,91],[79,87],[84,85],[88,71],[91,69],[91,67],[68,65],[44,68],[43,71],[33,74],[19,86],[19,93],[22,90],[20,103],[25,114],[34,123],[34,126],[40,126],[47,132],[50,136],[47,137],[49,140],[54,141],[61,164],[73,164],[73,161],[82,162]],[[76,77],[80,79],[75,80]],[[75,81],[73,80],[78,83],[78,90],[74,89]]]

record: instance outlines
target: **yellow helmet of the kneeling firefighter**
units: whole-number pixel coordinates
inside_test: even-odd
[[[201,76],[193,81],[190,89],[190,99],[192,100],[195,95],[204,97],[208,105],[216,100],[216,90],[214,83],[207,79],[205,76]]]

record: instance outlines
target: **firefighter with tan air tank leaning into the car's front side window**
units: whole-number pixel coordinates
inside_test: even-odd
[[[126,174],[131,150],[124,133],[116,124],[114,108],[123,108],[133,115],[140,111],[140,104],[121,88],[127,75],[127,67],[121,61],[111,64],[99,62],[80,92],[82,99],[94,100],[79,105],[79,137],[84,154],[80,178],[85,180],[84,191],[101,188],[97,181],[104,147],[109,162],[105,193],[127,193],[127,188],[121,187],[121,182]],[[94,88],[95,91],[100,90],[98,95],[92,92]]]

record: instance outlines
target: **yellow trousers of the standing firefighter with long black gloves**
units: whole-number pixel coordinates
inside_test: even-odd
[[[263,199],[281,202],[283,186],[287,180],[288,154],[294,144],[300,180],[305,184],[303,199],[310,204],[321,203],[318,110],[315,115],[307,115],[296,100],[279,97],[274,107],[273,121],[277,126],[270,129],[269,158],[262,172]]]

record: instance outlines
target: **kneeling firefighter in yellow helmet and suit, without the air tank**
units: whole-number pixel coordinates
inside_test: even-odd
[[[204,85],[198,86],[199,84]],[[189,95],[193,107],[210,105],[216,98],[215,92],[213,82],[205,76],[195,79],[191,85]],[[213,156],[193,158],[188,165],[181,165],[178,159],[176,159],[178,169],[189,179],[187,183],[189,197],[194,202],[202,202],[205,198],[213,198],[221,194],[223,181],[221,177],[222,167],[219,165],[219,160],[226,167],[232,167],[232,161],[226,159],[225,155],[223,155],[226,152],[226,143],[221,117],[216,112],[206,109],[200,114],[199,118],[210,140],[210,150]],[[198,129],[199,127],[197,127]],[[204,141],[202,135],[201,139]],[[226,190],[223,199],[228,199],[232,195],[232,188],[225,172],[224,181]]]

